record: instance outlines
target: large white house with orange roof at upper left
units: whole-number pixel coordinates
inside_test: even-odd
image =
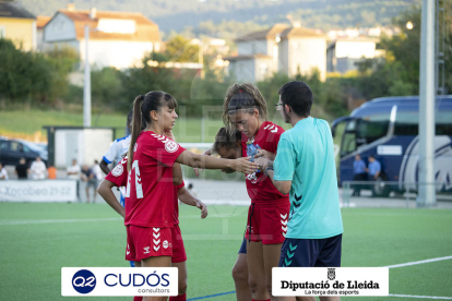
[[[98,68],[131,68],[160,50],[158,25],[141,13],[78,11],[74,5],[58,11],[44,27],[46,47],[75,48],[85,60],[85,26],[90,27],[90,63]]]

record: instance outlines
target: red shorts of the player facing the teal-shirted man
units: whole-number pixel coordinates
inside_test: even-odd
[[[252,202],[248,209],[245,238],[251,241],[262,241],[262,244],[283,243],[287,232],[289,210],[290,203],[287,198],[272,204]]]

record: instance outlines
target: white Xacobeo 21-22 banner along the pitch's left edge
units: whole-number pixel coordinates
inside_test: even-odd
[[[76,202],[76,181],[0,181],[0,202]]]

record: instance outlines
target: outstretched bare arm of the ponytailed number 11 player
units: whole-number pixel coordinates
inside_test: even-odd
[[[249,161],[247,158],[238,158],[235,160],[219,159],[211,156],[202,156],[193,154],[188,150],[183,150],[179,157],[177,157],[176,162],[188,165],[191,167],[198,168],[207,168],[207,169],[234,169],[243,173],[253,173],[258,170],[258,165]]]

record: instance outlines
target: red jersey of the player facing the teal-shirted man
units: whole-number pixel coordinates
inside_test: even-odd
[[[274,124],[273,122],[265,121],[259,128],[258,133],[254,135],[254,146],[265,149],[270,153],[276,154],[277,143],[279,142],[281,134],[284,133],[284,129]],[[247,141],[248,136],[241,134],[241,155],[247,155]],[[258,147],[258,148],[259,148]],[[251,202],[270,202],[281,198],[289,200],[288,195],[282,194],[272,183],[272,180],[260,170],[246,177],[248,195]]]

